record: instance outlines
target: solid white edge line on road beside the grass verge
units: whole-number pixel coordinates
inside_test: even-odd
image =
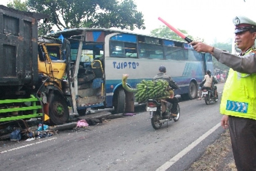
[[[159,168],[157,168],[156,171],[165,171],[165,170],[167,170],[171,165],[173,165],[181,157],[183,157],[185,154],[187,154],[191,149],[193,149],[197,144],[199,144],[201,141],[203,141],[206,137],[208,137],[211,133],[213,133],[220,126],[221,126],[221,123],[218,123],[217,125],[215,125],[209,131],[207,131],[201,137],[199,137],[196,141],[192,142],[190,145],[188,145],[186,148],[184,148],[180,153],[176,154],[174,157],[172,157],[166,163],[164,163]]]

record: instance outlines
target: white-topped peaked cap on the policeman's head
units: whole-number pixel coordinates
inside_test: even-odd
[[[244,16],[237,16],[233,19],[235,25],[235,32],[239,33],[243,31],[248,31],[250,29],[256,29],[256,22]]]

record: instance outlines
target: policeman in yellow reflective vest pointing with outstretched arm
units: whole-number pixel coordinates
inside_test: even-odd
[[[242,51],[239,55],[202,42],[190,44],[197,52],[211,53],[230,67],[221,98],[221,126],[229,126],[237,170],[251,171],[256,170],[256,22],[238,16],[233,23],[235,42]]]

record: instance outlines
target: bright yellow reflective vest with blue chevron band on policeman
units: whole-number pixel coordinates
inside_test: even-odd
[[[250,54],[250,51],[246,54]],[[256,74],[242,74],[230,68],[221,97],[220,112],[256,120]]]

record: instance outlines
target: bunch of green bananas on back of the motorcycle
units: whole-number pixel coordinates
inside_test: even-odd
[[[142,80],[136,85],[138,89],[135,94],[137,102],[146,102],[148,99],[167,98],[170,96],[168,91],[169,83],[165,80]]]

